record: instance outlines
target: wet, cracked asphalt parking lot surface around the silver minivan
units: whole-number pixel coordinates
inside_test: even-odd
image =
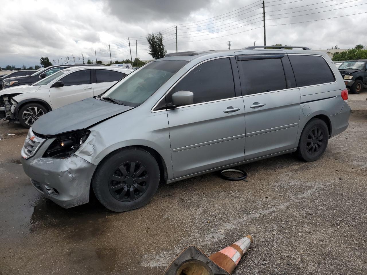
[[[0,122],[0,274],[162,274],[189,245],[207,255],[251,234],[234,274],[367,274],[367,91],[324,156],[240,166],[161,186],[145,207],[63,209],[19,164],[27,129]]]

